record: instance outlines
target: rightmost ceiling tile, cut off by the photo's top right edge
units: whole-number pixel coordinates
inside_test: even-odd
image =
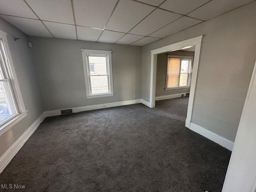
[[[192,11],[188,16],[208,20],[252,1],[253,0],[212,0]]]

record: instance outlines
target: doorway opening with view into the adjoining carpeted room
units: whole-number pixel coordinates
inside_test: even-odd
[[[186,121],[195,46],[157,55],[155,106]]]

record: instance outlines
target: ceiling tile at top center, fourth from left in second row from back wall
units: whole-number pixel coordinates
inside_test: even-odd
[[[131,0],[120,0],[106,26],[106,29],[128,32],[152,10],[154,10],[154,7],[152,6]]]

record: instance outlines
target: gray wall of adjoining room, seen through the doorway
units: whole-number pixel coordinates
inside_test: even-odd
[[[164,95],[179,94],[179,93],[187,93],[190,90],[190,88],[178,88],[178,89],[165,90],[166,70],[167,70],[167,63],[168,63],[167,54],[194,57],[194,52],[190,52],[190,51],[172,51],[169,53],[162,53],[157,56],[156,97],[164,96]]]

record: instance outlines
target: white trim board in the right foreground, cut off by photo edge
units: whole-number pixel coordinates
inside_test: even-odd
[[[256,192],[256,62],[222,192]]]

